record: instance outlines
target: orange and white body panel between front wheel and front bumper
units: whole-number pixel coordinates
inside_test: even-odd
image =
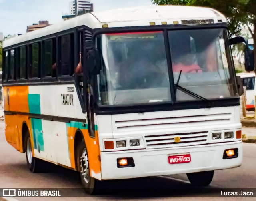
[[[84,135],[86,148],[88,150],[90,176],[101,180],[100,147],[97,125],[95,125],[95,138],[89,136],[88,125],[87,129],[81,129],[81,131]]]

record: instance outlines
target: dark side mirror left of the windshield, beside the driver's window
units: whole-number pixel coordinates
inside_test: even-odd
[[[88,51],[88,71],[91,75],[100,74],[101,70],[101,58],[98,49]]]

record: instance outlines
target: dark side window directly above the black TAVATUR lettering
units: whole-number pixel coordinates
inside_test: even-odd
[[[74,38],[71,34],[61,37],[61,74],[74,73]]]

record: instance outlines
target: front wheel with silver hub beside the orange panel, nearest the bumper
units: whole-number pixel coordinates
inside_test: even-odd
[[[84,139],[82,139],[81,143],[77,148],[77,161],[78,161],[78,169],[80,172],[81,183],[89,195],[98,193],[98,184],[100,181],[90,176],[89,169],[89,161],[88,161],[88,153],[86,149],[86,145]]]

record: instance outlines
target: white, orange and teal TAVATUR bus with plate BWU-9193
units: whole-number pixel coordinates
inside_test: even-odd
[[[222,14],[189,6],[93,12],[6,40],[6,140],[33,173],[79,171],[88,193],[179,173],[209,185],[242,163],[237,42]]]

